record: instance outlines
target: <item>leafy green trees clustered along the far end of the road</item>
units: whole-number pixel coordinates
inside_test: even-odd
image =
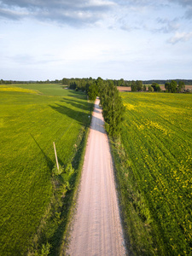
[[[100,97],[102,114],[105,120],[105,129],[108,135],[118,137],[124,120],[125,107],[119,96],[117,82],[114,80],[98,79],[63,79],[63,84],[73,90],[86,91],[91,101]],[[120,83],[123,83],[121,79]]]

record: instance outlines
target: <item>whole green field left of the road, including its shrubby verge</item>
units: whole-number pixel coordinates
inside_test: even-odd
[[[0,254],[57,255],[93,104],[60,84],[3,84],[0,108]]]

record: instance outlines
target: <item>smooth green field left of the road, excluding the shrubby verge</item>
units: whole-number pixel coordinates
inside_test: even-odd
[[[0,255],[24,255],[52,195],[53,142],[73,160],[92,104],[58,84],[0,85]]]

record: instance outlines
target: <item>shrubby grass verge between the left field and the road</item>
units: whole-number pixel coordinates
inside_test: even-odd
[[[89,124],[79,133],[77,151],[72,165],[60,166],[61,173],[52,177],[53,195],[38,232],[32,240],[30,255],[63,255],[67,249],[69,225],[73,218],[75,198],[79,187]],[[47,254],[46,254],[47,253]]]

